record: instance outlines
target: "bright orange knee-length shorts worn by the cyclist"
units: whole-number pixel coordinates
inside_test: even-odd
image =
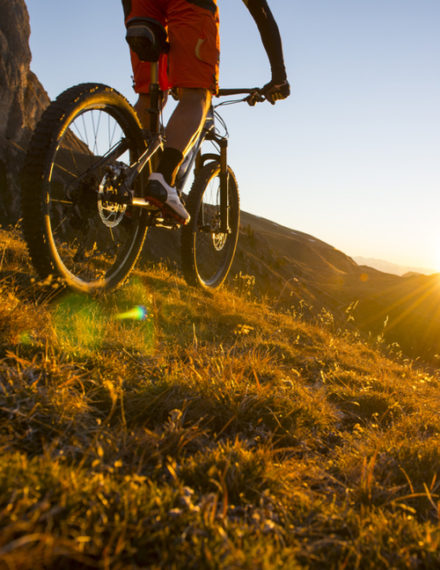
[[[218,89],[219,18],[216,0],[125,0],[126,21],[154,18],[168,32],[170,51],[159,61],[160,88]],[[131,52],[134,89],[148,93],[150,64]]]

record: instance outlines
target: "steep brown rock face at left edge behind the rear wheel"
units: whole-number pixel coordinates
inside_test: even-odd
[[[0,0],[0,223],[20,217],[19,175],[30,134],[49,97],[30,70],[24,0]]]

